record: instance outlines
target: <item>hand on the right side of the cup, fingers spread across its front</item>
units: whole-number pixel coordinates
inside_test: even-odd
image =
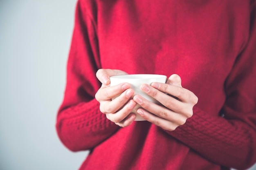
[[[193,92],[182,88],[181,78],[176,74],[171,75],[166,84],[143,84],[141,90],[155,98],[162,106],[135,95],[133,100],[141,106],[137,113],[147,121],[169,131],[185,124],[193,115],[193,106],[198,102],[198,97]]]

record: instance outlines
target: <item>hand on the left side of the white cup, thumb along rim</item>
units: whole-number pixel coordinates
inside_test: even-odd
[[[134,91],[130,88],[130,84],[122,83],[110,87],[110,77],[126,74],[124,71],[111,69],[99,69],[96,73],[102,83],[95,94],[95,99],[100,103],[100,111],[106,114],[107,119],[121,127],[129,126],[135,120],[136,115],[131,111],[137,103],[131,99]]]

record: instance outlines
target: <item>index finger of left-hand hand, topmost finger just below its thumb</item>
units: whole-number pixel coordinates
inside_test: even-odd
[[[102,85],[102,86],[105,86],[105,85]],[[110,100],[114,97],[117,97],[128,88],[130,88],[130,84],[128,83],[122,83],[116,86],[111,86],[111,87],[108,86],[108,87],[100,88],[95,94],[95,99],[99,102]]]

